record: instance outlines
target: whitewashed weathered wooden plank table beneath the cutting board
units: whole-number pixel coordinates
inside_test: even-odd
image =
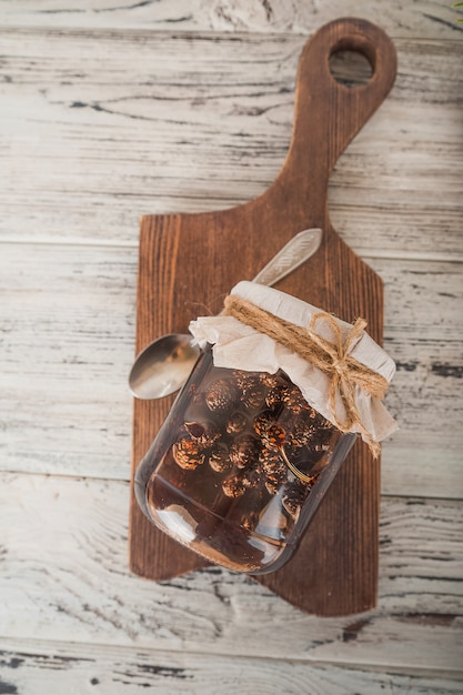
[[[300,51],[380,24],[395,87],[330,184],[397,362],[379,603],[320,618],[127,568],[139,216],[265,190]],[[463,24],[421,0],[0,4],[0,693],[463,692]]]

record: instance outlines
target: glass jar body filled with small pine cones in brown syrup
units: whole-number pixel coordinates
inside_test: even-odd
[[[282,370],[218,367],[208,346],[137,471],[137,500],[155,526],[208,561],[273,572],[354,441]]]

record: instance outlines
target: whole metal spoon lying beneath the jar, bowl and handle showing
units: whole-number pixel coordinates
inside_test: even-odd
[[[315,253],[322,241],[320,229],[308,229],[293,236],[255,275],[253,282],[273,285]],[[182,333],[162,335],[135,359],[129,375],[129,389],[137,399],[160,399],[178,391],[187,381],[200,350],[192,336]]]

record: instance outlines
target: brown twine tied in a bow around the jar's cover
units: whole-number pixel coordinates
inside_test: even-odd
[[[345,342],[342,342],[341,330],[334,316],[325,312],[314,314],[306,329],[298,326],[280,316],[241,299],[229,295],[224,302],[224,315],[231,315],[256,331],[269,335],[280,344],[289,348],[304,360],[321,370],[330,377],[329,404],[333,423],[341,432],[351,432],[356,425],[368,443],[371,453],[376,457],[380,444],[375,442],[362,422],[355,404],[355,385],[371,396],[383,399],[387,381],[370,367],[358,362],[350,352],[361,338],[366,321],[358,319],[353,324]],[[322,338],[315,332],[319,321],[325,321],[333,332],[334,342]],[[336,414],[336,399],[341,396],[345,409],[345,419],[342,421]]]

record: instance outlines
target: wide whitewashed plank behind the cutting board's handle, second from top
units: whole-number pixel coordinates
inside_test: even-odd
[[[135,244],[141,214],[236,205],[283,164],[305,37],[11,29],[0,41],[3,240]],[[333,224],[362,255],[463,258],[463,44],[396,48],[395,88],[332,175]]]

